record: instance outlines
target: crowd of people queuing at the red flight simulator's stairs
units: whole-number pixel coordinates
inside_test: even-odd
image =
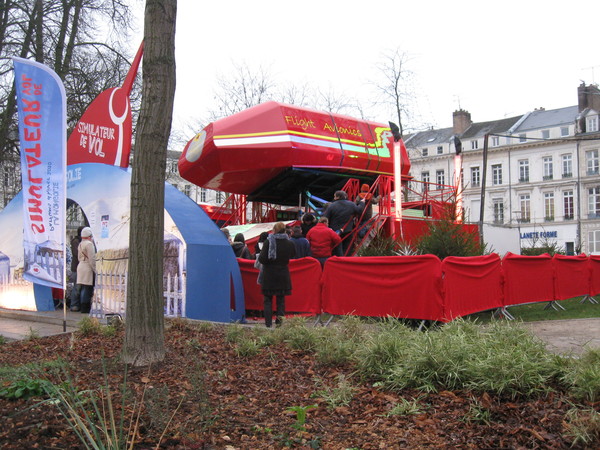
[[[319,261],[321,268],[332,256],[351,253],[351,234],[357,231],[363,238],[368,230],[368,222],[373,216],[373,204],[378,197],[370,192],[370,186],[363,184],[354,202],[348,200],[344,191],[336,191],[333,201],[322,211],[321,217],[306,213],[300,225],[286,227],[277,222],[271,233],[263,231],[254,252],[250,252],[244,235],[238,233],[233,241],[229,230],[223,229],[237,258],[254,259],[254,267],[259,270],[257,283],[261,286],[264,298],[265,325],[273,324],[273,298],[275,298],[275,325],[281,325],[285,315],[285,297],[292,292],[289,271],[291,259],[311,256]]]

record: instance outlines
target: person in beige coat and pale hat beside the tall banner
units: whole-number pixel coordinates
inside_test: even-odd
[[[77,249],[79,264],[77,265],[77,285],[79,299],[71,304],[71,311],[90,312],[92,296],[94,295],[94,281],[96,274],[96,247],[92,241],[92,229],[85,227],[81,230],[81,243]]]

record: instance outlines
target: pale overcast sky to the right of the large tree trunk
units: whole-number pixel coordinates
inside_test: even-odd
[[[205,116],[217,77],[241,64],[366,105],[397,48],[415,112],[437,128],[458,108],[481,122],[575,105],[581,81],[600,81],[597,17],[597,0],[180,0],[175,125]]]

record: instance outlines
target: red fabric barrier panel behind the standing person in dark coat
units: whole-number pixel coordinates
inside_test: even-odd
[[[263,310],[263,295],[256,283],[258,269],[254,261],[238,258],[246,309]],[[286,312],[321,313],[321,264],[314,258],[300,258],[290,261],[292,295],[285,298]]]

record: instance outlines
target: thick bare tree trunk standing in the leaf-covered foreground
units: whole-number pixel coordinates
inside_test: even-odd
[[[123,359],[164,358],[164,174],[175,96],[177,0],[146,0],[142,107],[131,179],[129,277]]]

